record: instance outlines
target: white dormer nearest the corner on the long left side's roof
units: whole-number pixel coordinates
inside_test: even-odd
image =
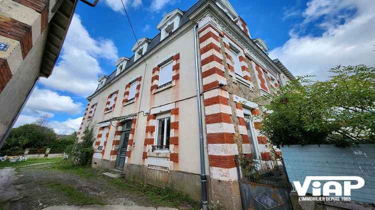
[[[183,12],[178,8],[164,15],[159,24],[156,26],[156,28],[161,32],[160,41],[177,29],[182,15]]]

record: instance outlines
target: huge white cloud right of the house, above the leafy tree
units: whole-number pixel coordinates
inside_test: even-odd
[[[374,1],[312,0],[307,5],[304,23],[329,14],[318,25],[324,32],[320,36],[291,32],[291,38],[283,46],[269,51],[272,59],[278,58],[294,75],[314,74],[317,76],[314,79],[319,80],[327,79],[326,71],[338,64],[375,64],[375,52],[372,51],[375,44]],[[353,9],[353,6],[356,12],[351,13],[352,16],[341,14],[343,9]],[[335,15],[343,18],[343,23],[332,21]]]

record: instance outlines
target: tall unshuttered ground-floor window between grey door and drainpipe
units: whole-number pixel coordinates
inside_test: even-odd
[[[156,116],[156,137],[155,148],[159,150],[169,149],[170,137],[170,113],[159,114]]]

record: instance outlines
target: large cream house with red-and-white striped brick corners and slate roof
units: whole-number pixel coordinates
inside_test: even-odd
[[[174,9],[156,28],[157,35],[138,39],[132,56],[119,57],[117,68],[99,77],[77,138],[94,126],[94,168],[173,187],[196,200],[203,174],[208,200],[238,209],[234,155],[270,155],[259,122],[246,117],[259,114],[253,98],[294,77],[267,56],[262,39],[251,38],[228,0]]]

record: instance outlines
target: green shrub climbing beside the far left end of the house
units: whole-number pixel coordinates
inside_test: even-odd
[[[81,140],[75,140],[70,152],[70,157],[72,157],[80,165],[89,166],[91,164],[93,154],[92,143],[94,139],[93,127],[86,126],[84,128],[83,138]]]

